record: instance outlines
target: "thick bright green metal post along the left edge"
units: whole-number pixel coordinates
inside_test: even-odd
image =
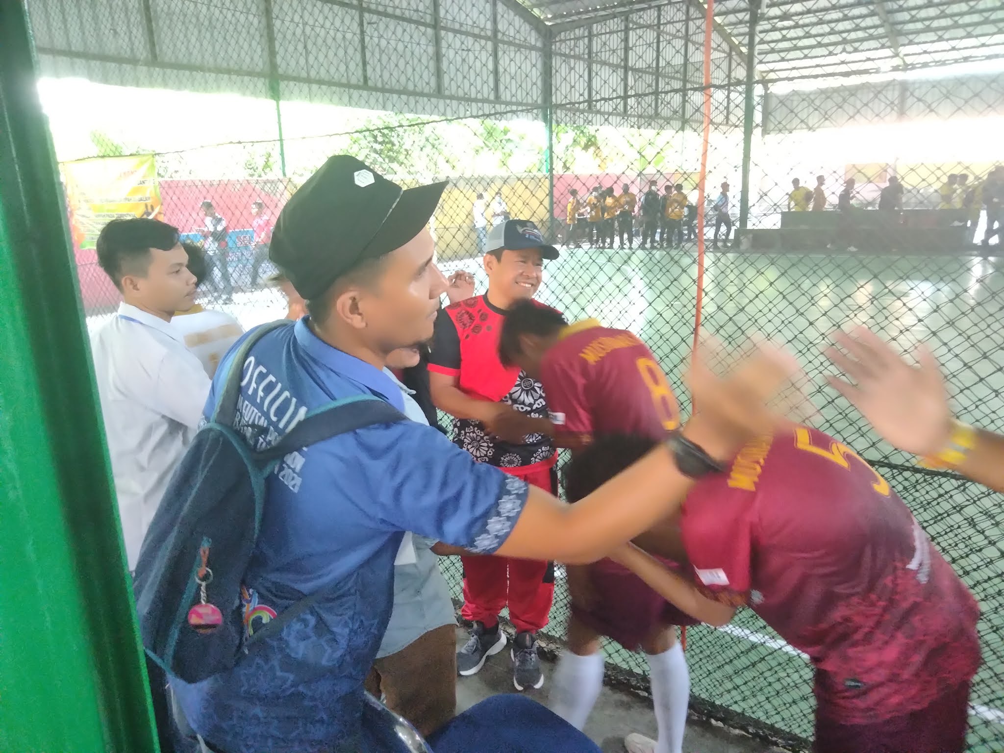
[[[0,2],[0,751],[157,751],[27,10]]]

